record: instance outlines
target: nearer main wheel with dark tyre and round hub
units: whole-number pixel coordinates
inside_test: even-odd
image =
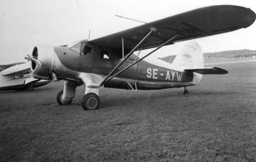
[[[100,98],[95,93],[84,94],[82,98],[82,107],[84,110],[96,110],[99,108]]]

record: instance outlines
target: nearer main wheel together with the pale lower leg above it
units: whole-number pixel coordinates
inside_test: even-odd
[[[81,103],[84,110],[98,109],[100,105],[99,88],[86,87]]]

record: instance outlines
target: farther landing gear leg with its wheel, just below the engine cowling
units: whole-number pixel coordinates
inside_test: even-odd
[[[76,95],[77,84],[71,81],[65,81],[63,91],[60,91],[56,97],[60,105],[69,105]]]

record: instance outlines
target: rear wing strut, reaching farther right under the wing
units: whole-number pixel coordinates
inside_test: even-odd
[[[127,66],[127,67],[124,68],[123,70],[119,71],[118,73],[116,73],[116,74],[113,75],[112,77],[109,77],[109,78],[106,77],[106,78],[102,81],[102,83],[101,83],[100,85],[102,86],[104,83],[106,83],[106,82],[108,82],[109,80],[111,80],[112,78],[116,77],[116,75],[119,75],[120,73],[122,73],[123,71],[127,70],[128,68],[130,68],[130,67],[133,66],[134,64],[136,64],[136,63],[140,62],[141,60],[145,59],[145,57],[147,57],[148,55],[150,55],[150,54],[156,52],[156,50],[159,50],[159,48],[163,47],[164,45],[166,45],[167,43],[169,43],[169,42],[172,41],[173,39],[177,38],[177,36],[179,36],[179,35],[173,36],[173,38],[171,38],[170,40],[164,42],[162,45],[160,45],[160,46],[157,47],[156,49],[152,50],[152,51],[149,52],[147,55],[141,57],[141,59],[138,59],[138,61],[135,61],[134,63],[130,64],[129,66]],[[126,57],[125,57],[125,58],[126,58]],[[114,69],[114,70],[115,70],[115,69]],[[109,76],[109,75],[108,75],[108,76]]]

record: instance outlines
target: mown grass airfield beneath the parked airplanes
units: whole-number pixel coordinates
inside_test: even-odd
[[[256,63],[220,64],[227,75],[159,91],[100,89],[84,111],[56,94],[0,92],[0,161],[256,161]]]

